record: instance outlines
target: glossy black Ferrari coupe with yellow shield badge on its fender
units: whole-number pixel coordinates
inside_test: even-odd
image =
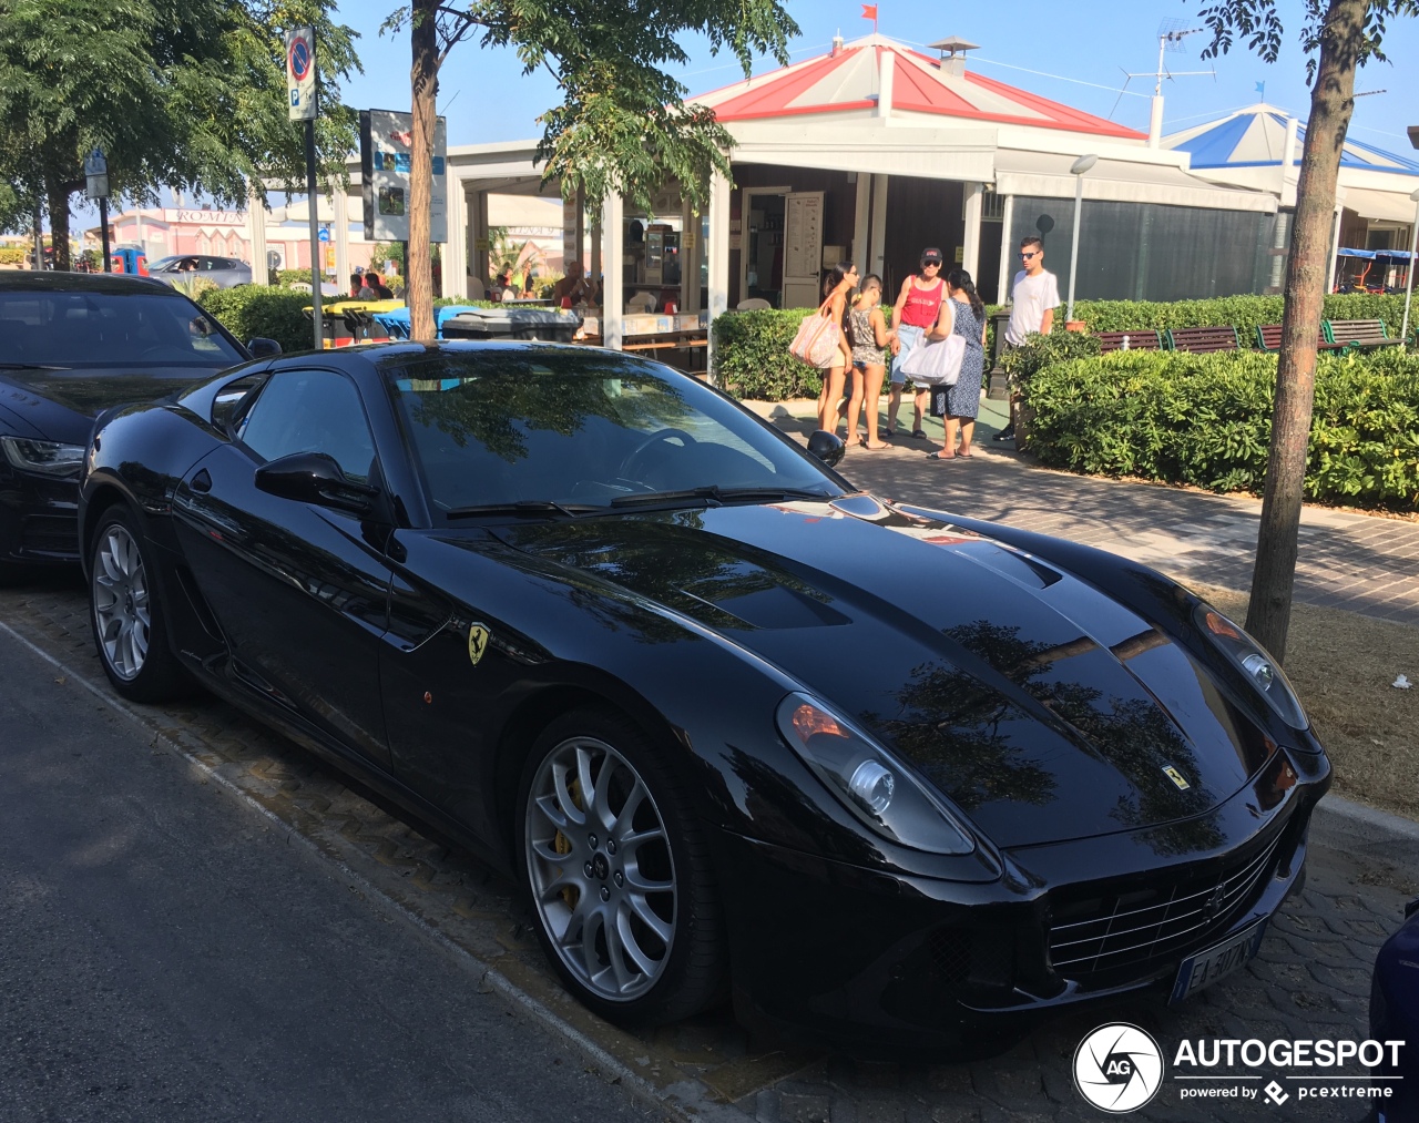
[[[616,352],[248,365],[101,426],[81,534],[121,693],[194,677],[514,872],[624,1021],[732,980],[746,1019],[951,1045],[1186,998],[1330,784],[1186,589],[854,490]]]

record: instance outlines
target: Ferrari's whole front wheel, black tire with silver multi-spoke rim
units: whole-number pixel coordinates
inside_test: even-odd
[[[663,754],[596,710],[555,720],[518,788],[518,865],[562,981],[610,1021],[698,1012],[724,978],[718,896]]]

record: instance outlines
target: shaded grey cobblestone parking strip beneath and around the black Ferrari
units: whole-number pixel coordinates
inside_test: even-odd
[[[0,622],[106,693],[74,579],[0,589]],[[0,642],[14,640],[0,633]],[[1318,816],[1308,886],[1277,916],[1260,957],[1176,1009],[1152,999],[1095,1007],[1040,1028],[1005,1056],[969,1063],[868,1063],[812,1049],[756,1048],[722,1011],[636,1035],[600,1022],[566,997],[542,960],[514,886],[463,852],[224,703],[199,696],[179,706],[129,708],[153,731],[155,751],[189,754],[309,839],[348,870],[352,893],[373,889],[394,902],[637,1073],[667,1107],[702,1120],[1101,1119],[1073,1088],[1071,1058],[1087,1031],[1114,1019],[1149,1029],[1169,1059],[1182,1038],[1362,1038],[1375,951],[1398,927],[1403,902],[1419,892],[1403,872],[1419,869],[1419,843],[1405,852],[1392,840],[1366,842],[1354,822]],[[209,778],[194,769],[193,782]],[[1301,1103],[1297,1096],[1283,1109],[1196,1106],[1181,1100],[1181,1088],[1166,1082],[1134,1117],[1348,1123],[1364,1114],[1354,1102]]]

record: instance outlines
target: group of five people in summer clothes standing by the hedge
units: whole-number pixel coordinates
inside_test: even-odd
[[[1032,332],[1049,334],[1054,309],[1060,305],[1054,274],[1044,271],[1044,246],[1040,239],[1027,237],[1020,243],[1020,263],[1022,270],[1010,290],[1012,309],[1005,346],[1020,346]],[[972,440],[985,378],[985,302],[966,270],[951,270],[942,275],[945,258],[941,250],[922,250],[920,265],[920,273],[902,281],[890,321],[881,307],[881,277],[874,273],[858,277],[851,261],[841,261],[829,273],[823,283],[820,314],[839,324],[841,334],[837,351],[823,371],[817,424],[819,429],[836,433],[846,399],[847,446],[870,450],[891,447],[883,437],[897,434],[901,398],[911,378],[902,365],[918,346],[955,334],[965,342],[965,355],[956,380],[942,388],[945,447],[927,456],[938,461],[969,460],[973,456]],[[878,430],[877,402],[888,368],[891,388],[887,424]],[[931,389],[914,383],[911,436],[918,440],[927,436],[922,420]],[[1013,409],[1012,400],[1012,424],[996,440],[1013,437]]]

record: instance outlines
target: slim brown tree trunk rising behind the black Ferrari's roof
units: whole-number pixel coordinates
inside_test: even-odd
[[[438,0],[413,0],[413,156],[409,176],[409,254],[404,285],[409,292],[410,338],[434,338],[434,290],[430,263],[430,207],[434,193],[434,122],[438,115]],[[1334,190],[1332,190],[1334,193]]]

